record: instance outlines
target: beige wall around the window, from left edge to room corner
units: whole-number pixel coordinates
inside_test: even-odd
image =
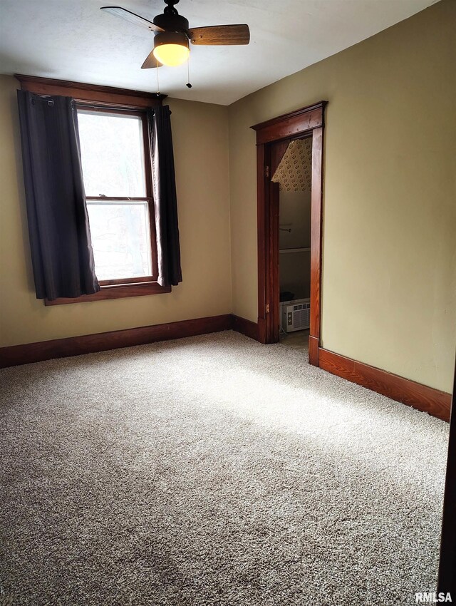
[[[0,346],[231,312],[227,108],[167,100],[182,284],[170,294],[44,307],[33,292],[16,87],[0,76]]]

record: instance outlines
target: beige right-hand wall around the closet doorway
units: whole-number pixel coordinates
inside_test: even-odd
[[[257,321],[255,133],[328,101],[322,342],[445,391],[456,346],[456,2],[229,108],[233,312]]]

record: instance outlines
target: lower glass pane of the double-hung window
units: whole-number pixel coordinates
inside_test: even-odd
[[[98,279],[152,275],[147,202],[87,200],[87,210]]]

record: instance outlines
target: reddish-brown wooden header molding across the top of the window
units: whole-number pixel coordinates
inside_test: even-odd
[[[166,95],[146,93],[145,91],[129,91],[127,88],[54,80],[53,78],[38,78],[38,76],[24,76],[21,73],[15,73],[14,76],[21,83],[23,91],[30,91],[37,95],[73,97],[79,103],[105,103],[107,106],[123,105],[133,108],[148,108],[161,105],[162,100],[166,98]]]

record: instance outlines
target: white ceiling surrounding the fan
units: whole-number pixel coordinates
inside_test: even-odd
[[[159,70],[160,92],[229,105],[373,36],[437,0],[181,0],[191,27],[247,23],[249,46],[192,46],[187,66]],[[0,72],[157,91],[140,66],[153,34],[100,11],[152,20],[162,0],[0,0]]]

